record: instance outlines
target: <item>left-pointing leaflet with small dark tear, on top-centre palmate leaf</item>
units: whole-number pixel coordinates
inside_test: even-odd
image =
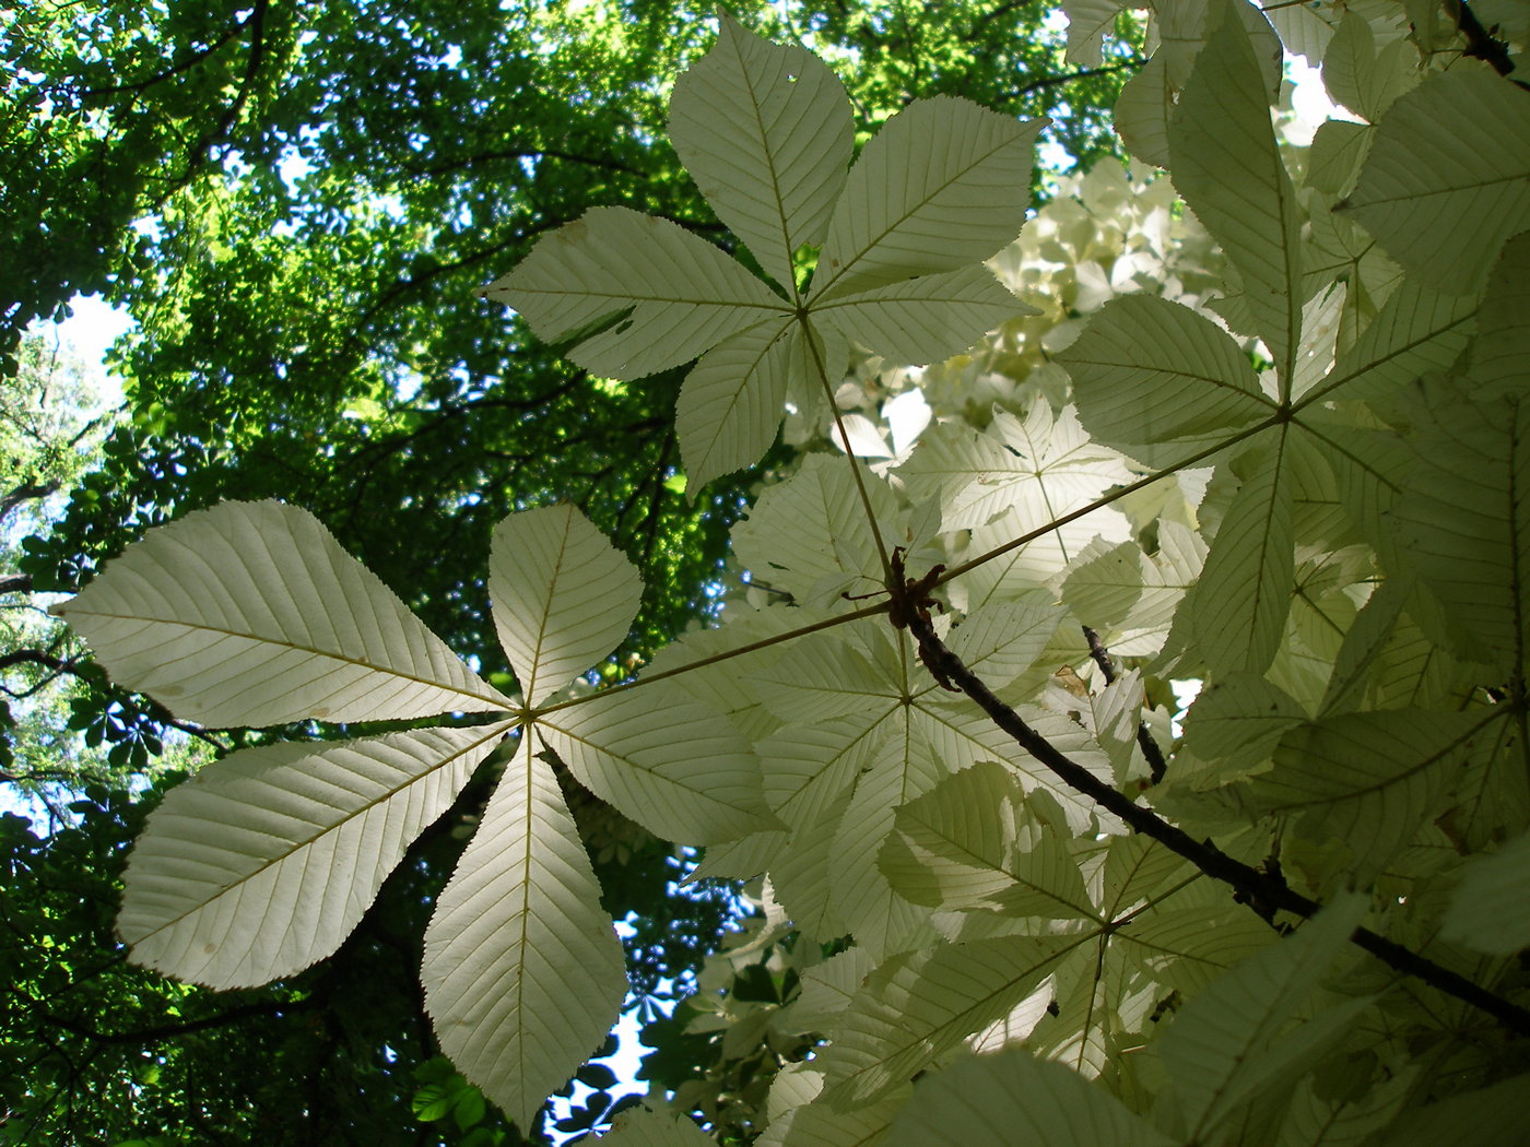
[[[678,367],[739,330],[789,314],[785,300],[667,219],[601,206],[543,236],[483,289],[543,343],[571,338],[586,370],[635,379]],[[629,312],[615,324],[591,324]]]

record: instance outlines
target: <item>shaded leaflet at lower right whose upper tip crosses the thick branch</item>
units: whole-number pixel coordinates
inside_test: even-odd
[[[1294,936],[1244,960],[1178,1011],[1155,1046],[1174,1080],[1189,1141],[1216,1141],[1215,1129],[1239,1104],[1340,1037],[1356,1011],[1369,1005],[1369,999],[1345,1000],[1284,1031],[1365,910],[1363,896],[1337,898]]]

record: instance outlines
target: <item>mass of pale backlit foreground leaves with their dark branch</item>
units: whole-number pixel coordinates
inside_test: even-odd
[[[597,206],[488,291],[600,393],[699,358],[687,488],[783,416],[840,453],[734,526],[719,627],[603,687],[640,577],[572,506],[494,529],[503,688],[304,511],[136,543],[58,607],[118,681],[193,720],[396,723],[174,789],[133,959],[242,985],[341,948],[482,771],[421,968],[462,1075],[416,1109],[479,1089],[536,1133],[623,994],[558,765],[701,875],[763,873],[655,1032],[672,1109],[617,1142],[701,1141],[692,1112],[779,1147],[1522,1138],[1525,93],[1415,8],[1160,5],[1118,116],[1196,223],[1095,168],[1019,240],[1039,124],[915,99],[846,171],[828,70],[722,17],[670,125],[753,263]],[[1094,57],[1115,8],[1069,15]],[[1282,38],[1374,119],[1322,165],[1271,121]],[[1418,156],[1473,132],[1437,187]],[[1112,213],[1148,237],[1103,242]]]

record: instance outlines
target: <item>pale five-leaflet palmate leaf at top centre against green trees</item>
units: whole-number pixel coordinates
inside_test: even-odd
[[[838,81],[800,47],[721,21],[716,46],[676,83],[673,142],[782,294],[673,223],[621,208],[546,236],[483,292],[595,373],[633,379],[711,350],[676,410],[687,489],[757,462],[783,401],[815,405],[838,381],[848,338],[923,366],[1030,312],[976,265],[1025,222],[1047,122],[918,101],[846,176]],[[793,257],[820,239],[803,300]]]

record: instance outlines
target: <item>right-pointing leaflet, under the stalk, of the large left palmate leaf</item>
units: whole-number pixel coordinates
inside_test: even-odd
[[[537,729],[591,792],[662,840],[711,844],[776,827],[750,743],[667,682],[584,697]]]

